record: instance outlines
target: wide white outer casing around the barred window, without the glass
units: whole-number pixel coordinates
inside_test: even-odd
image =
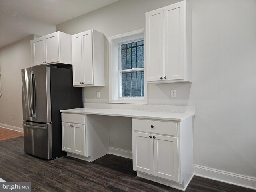
[[[111,36],[108,38],[109,50],[109,102],[110,103],[126,103],[126,104],[147,104],[147,82],[146,82],[146,42],[144,40],[144,97],[120,97],[120,45],[126,42],[136,42],[144,37],[145,29],[135,30],[132,32]],[[135,70],[138,70],[136,68]]]

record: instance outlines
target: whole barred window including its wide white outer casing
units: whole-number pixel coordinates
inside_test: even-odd
[[[147,104],[144,29],[109,38],[110,103]]]

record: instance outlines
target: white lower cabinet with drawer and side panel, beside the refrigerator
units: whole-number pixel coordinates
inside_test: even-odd
[[[108,125],[107,116],[62,113],[62,150],[90,162],[108,154]]]

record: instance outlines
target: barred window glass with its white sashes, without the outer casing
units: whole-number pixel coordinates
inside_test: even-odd
[[[119,96],[144,97],[144,40],[119,46]]]

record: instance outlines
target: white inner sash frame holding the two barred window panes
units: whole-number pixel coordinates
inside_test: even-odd
[[[142,68],[131,68],[131,69],[122,69],[122,44],[128,44],[132,42],[137,42],[137,41],[142,41],[144,38],[138,38],[138,39],[133,39],[129,41],[124,41],[124,42],[119,42],[118,43],[118,99],[136,99],[136,98],[144,98],[145,97],[145,92],[144,96],[142,97],[122,97],[121,96],[121,88],[122,88],[122,82],[120,79],[120,72],[132,72],[132,71],[140,71],[144,70],[144,91],[145,91],[145,41],[144,41],[144,67]]]

